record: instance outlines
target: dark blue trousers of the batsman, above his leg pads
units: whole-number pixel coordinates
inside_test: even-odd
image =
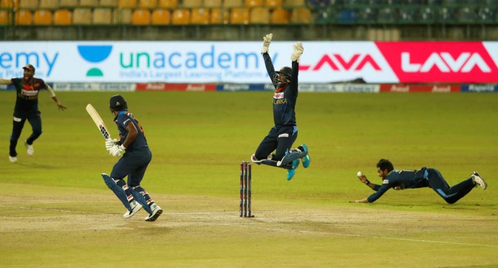
[[[152,160],[152,153],[148,149],[126,152],[114,165],[111,178],[124,179],[124,177],[128,176],[127,184],[131,187],[138,186],[143,179],[150,160]]]

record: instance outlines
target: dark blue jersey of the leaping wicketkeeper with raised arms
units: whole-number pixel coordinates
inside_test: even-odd
[[[275,77],[275,69],[271,62],[270,55],[263,53],[264,65],[270,76],[271,83],[275,87],[273,93],[273,122],[275,126],[295,126],[296,125],[296,100],[297,100],[297,75],[299,74],[299,64],[292,62],[292,75],[290,83],[284,89],[279,89]]]

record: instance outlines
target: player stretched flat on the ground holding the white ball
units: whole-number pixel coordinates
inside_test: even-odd
[[[395,170],[392,163],[386,159],[380,159],[377,163],[378,177],[382,178],[382,185],[370,182],[363,174],[358,174],[358,178],[363,183],[372,188],[375,193],[363,200],[350,201],[354,203],[372,203],[377,200],[389,188],[404,190],[407,188],[432,188],[439,196],[453,204],[469,193],[472,188],[479,185],[486,189],[488,184],[476,171],[466,179],[450,187],[444,180],[441,173],[436,169],[422,168],[420,170]],[[360,176],[361,175],[361,176]]]

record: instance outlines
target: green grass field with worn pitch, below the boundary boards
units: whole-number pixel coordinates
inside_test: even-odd
[[[111,92],[40,93],[43,134],[8,162],[15,102],[0,92],[0,267],[498,266],[498,94],[301,93],[295,145],[311,166],[252,169],[255,218],[238,217],[239,163],[272,126],[271,92],[124,92],[153,158],[142,186],[164,209],[124,220],[100,173],[108,155],[85,105],[112,135]],[[453,205],[429,188],[390,190],[373,204],[358,171],[437,168],[449,184],[477,170],[489,188]]]

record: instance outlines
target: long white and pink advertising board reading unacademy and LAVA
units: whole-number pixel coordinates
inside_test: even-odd
[[[293,42],[273,41],[275,70]],[[262,42],[1,42],[0,78],[67,83],[270,83]],[[498,42],[304,41],[299,83],[497,83]]]

